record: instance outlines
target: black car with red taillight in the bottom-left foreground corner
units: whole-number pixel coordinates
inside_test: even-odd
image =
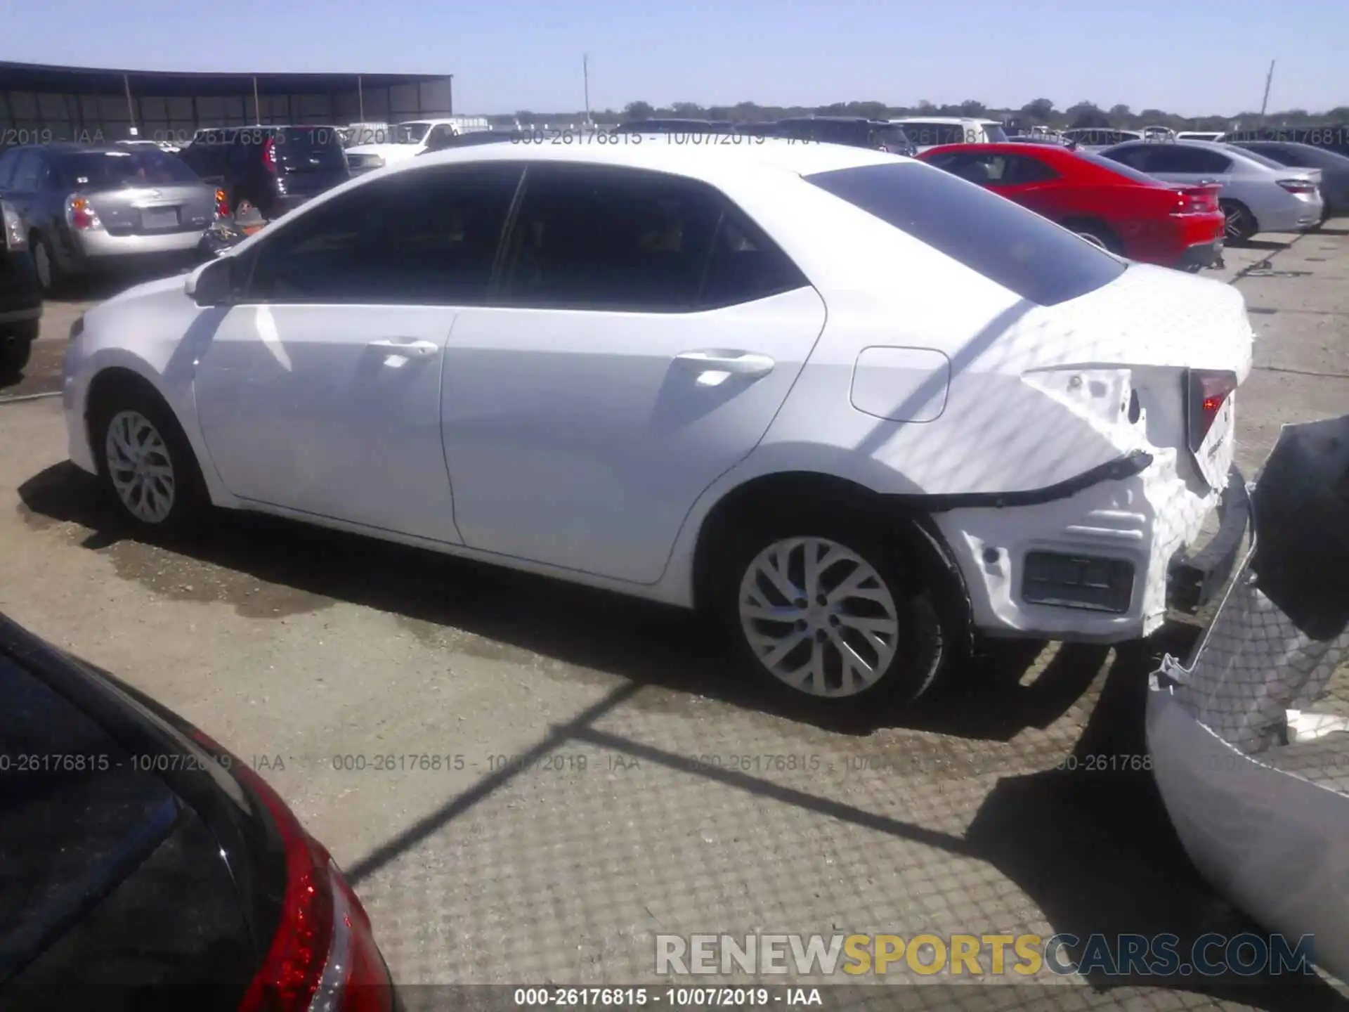
[[[3,615],[0,858],[5,1012],[397,1007],[360,900],[248,764]]]

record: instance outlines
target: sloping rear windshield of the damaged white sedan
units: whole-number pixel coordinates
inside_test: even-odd
[[[928,165],[836,169],[807,181],[1041,306],[1109,285],[1125,263],[1033,210]]]

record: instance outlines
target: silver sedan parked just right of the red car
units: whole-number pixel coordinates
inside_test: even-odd
[[[1319,169],[1295,169],[1255,151],[1207,140],[1139,140],[1099,154],[1164,182],[1219,184],[1225,239],[1233,246],[1257,232],[1304,232],[1325,217]]]

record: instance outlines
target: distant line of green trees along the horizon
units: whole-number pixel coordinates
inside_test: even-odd
[[[1079,101],[1066,109],[1059,109],[1050,99],[1036,99],[1020,109],[994,108],[979,101],[963,101],[955,105],[936,105],[920,101],[915,107],[886,105],[878,101],[834,103],[832,105],[759,105],[758,103],[737,103],[735,105],[699,105],[697,103],[670,103],[652,105],[634,101],[622,109],[591,109],[595,123],[631,123],[653,117],[676,117],[696,120],[730,120],[734,123],[754,123],[780,120],[786,116],[865,116],[867,119],[898,119],[901,116],[973,116],[1004,121],[1016,121],[1027,127],[1043,124],[1047,127],[1114,127],[1117,130],[1137,130],[1140,127],[1170,127],[1172,130],[1241,130],[1253,127],[1322,127],[1326,124],[1349,124],[1349,105],[1338,105],[1326,112],[1306,109],[1283,109],[1264,117],[1259,112],[1238,112],[1234,116],[1214,113],[1213,116],[1182,116],[1166,109],[1140,109],[1135,112],[1124,104],[1101,108],[1095,103]],[[488,116],[492,125],[542,125],[545,123],[583,123],[584,111],[533,112],[521,109],[514,115]]]

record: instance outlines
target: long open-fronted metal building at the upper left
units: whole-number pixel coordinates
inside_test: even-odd
[[[132,136],[185,143],[200,127],[401,123],[453,112],[453,74],[212,74],[0,62],[0,147]]]

